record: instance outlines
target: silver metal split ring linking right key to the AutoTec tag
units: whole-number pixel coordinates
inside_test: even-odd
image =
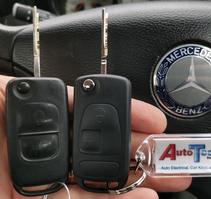
[[[136,173],[136,171],[138,169],[140,169],[140,162],[137,162],[137,165],[135,167],[133,166],[133,167],[130,167],[130,168],[131,168],[131,170],[134,170],[134,172]],[[142,175],[138,180],[136,180],[135,182],[133,182],[132,184],[130,184],[126,187],[123,187],[122,189],[108,190],[108,192],[111,193],[111,194],[120,195],[120,194],[128,193],[129,191],[134,190],[136,187],[141,185],[147,177],[146,172],[143,169],[141,169],[141,170],[142,170]]]

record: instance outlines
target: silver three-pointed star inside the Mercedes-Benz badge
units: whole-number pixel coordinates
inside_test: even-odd
[[[208,91],[206,88],[200,85],[196,80],[194,57],[191,57],[191,64],[190,64],[189,74],[188,74],[187,79],[184,82],[182,82],[180,85],[178,85],[174,90],[170,91],[169,93],[172,94],[172,93],[184,90],[186,88],[195,88],[197,90],[200,90],[201,92],[211,95],[210,91]]]

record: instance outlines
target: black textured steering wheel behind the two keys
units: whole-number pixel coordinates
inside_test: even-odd
[[[107,11],[109,73],[129,78],[133,97],[166,113],[166,133],[211,133],[211,112],[190,117],[172,114],[153,89],[158,65],[172,49],[190,44],[211,47],[211,2],[143,2],[109,6]],[[74,85],[78,76],[99,73],[100,19],[101,9],[92,9],[41,22],[42,76]],[[0,25],[0,41],[1,73],[32,76],[32,25]],[[210,198],[210,183],[209,178],[194,179],[189,191],[198,198]]]

